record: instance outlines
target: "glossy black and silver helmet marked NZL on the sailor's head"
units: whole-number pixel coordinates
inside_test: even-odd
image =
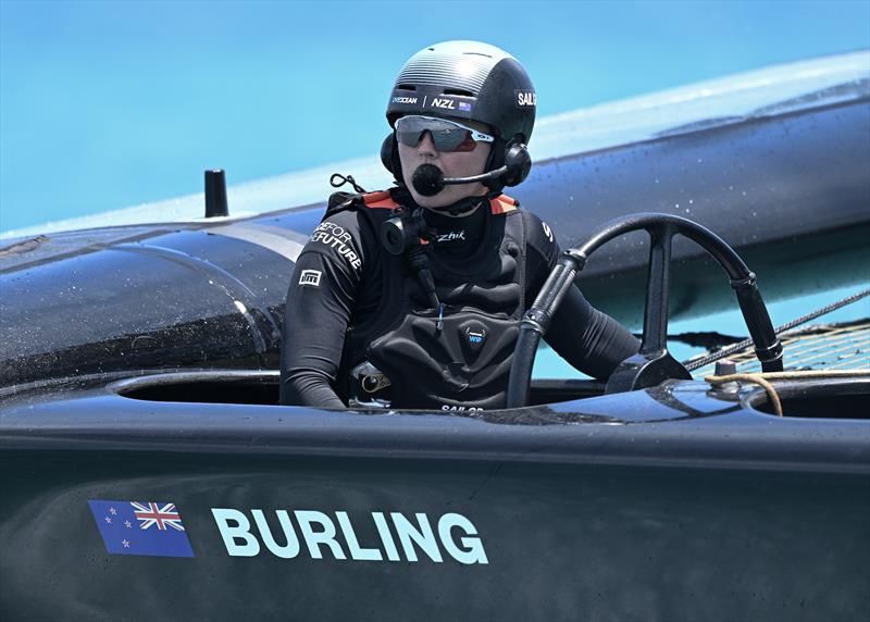
[[[470,119],[505,142],[527,144],[535,88],[517,59],[478,41],[446,41],[417,52],[399,72],[387,104],[394,126],[406,114]]]

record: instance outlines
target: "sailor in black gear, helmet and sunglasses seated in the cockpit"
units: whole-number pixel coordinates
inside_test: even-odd
[[[504,408],[520,320],[560,250],[502,194],[529,174],[536,96],[481,42],[427,47],[387,104],[385,191],[336,192],[287,296],[281,401],[345,408]],[[546,340],[606,378],[638,349],[572,287]]]

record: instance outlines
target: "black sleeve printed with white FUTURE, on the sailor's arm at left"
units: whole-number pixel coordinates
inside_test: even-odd
[[[362,245],[358,229],[343,215],[339,222],[322,223],[296,262],[284,314],[283,405],[346,406],[335,383],[361,282],[362,253],[357,249]]]

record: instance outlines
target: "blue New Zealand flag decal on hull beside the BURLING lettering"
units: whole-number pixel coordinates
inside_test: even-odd
[[[88,505],[110,553],[195,557],[175,503],[88,501]]]

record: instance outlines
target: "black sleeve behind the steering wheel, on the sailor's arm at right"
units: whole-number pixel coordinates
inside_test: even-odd
[[[526,220],[526,307],[531,307],[559,258],[552,231],[534,214]],[[622,324],[595,309],[572,286],[550,323],[545,340],[572,366],[606,380],[641,343]]]

